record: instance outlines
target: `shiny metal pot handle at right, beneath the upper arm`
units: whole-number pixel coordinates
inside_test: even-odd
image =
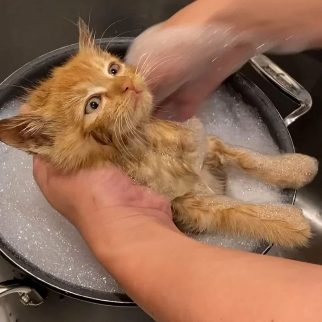
[[[269,58],[262,54],[256,55],[250,63],[266,80],[299,105],[284,118],[287,127],[311,109],[312,98],[309,92]]]

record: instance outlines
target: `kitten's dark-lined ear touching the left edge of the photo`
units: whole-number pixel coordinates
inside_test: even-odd
[[[0,141],[25,151],[39,154],[53,145],[53,125],[42,116],[28,113],[0,121]]]

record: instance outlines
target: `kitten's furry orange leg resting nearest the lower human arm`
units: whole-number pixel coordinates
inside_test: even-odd
[[[242,204],[225,196],[186,194],[172,202],[183,231],[219,232],[263,239],[284,247],[305,246],[311,236],[302,212],[289,205]]]

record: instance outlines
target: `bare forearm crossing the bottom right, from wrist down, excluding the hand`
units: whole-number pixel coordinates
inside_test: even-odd
[[[157,220],[126,229],[114,242],[94,253],[157,321],[322,317],[314,300],[322,296],[319,266],[211,247]]]

